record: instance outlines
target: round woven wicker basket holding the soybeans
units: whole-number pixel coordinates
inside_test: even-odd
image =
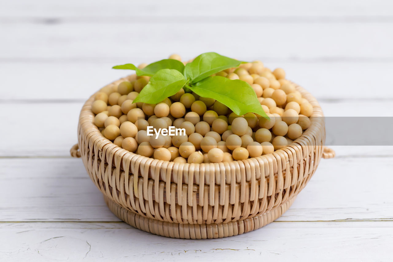
[[[182,164],[130,153],[103,137],[93,124],[94,95],[82,108],[79,142],[71,155],[82,157],[109,209],[133,227],[192,239],[249,232],[279,218],[310,180],[321,157],[334,157],[334,151],[323,146],[321,107],[303,88],[296,89],[317,117],[294,143],[261,157]]]

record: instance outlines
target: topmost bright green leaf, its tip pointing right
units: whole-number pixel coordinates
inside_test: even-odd
[[[242,61],[235,60],[214,52],[198,55],[194,61],[185,65],[184,76],[191,79],[191,83],[196,83],[212,74],[222,70],[237,67]]]

